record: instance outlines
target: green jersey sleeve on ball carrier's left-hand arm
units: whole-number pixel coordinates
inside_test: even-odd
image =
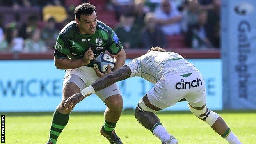
[[[70,54],[69,44],[65,41],[62,34],[59,34],[55,45],[54,57],[57,59],[65,59]]]

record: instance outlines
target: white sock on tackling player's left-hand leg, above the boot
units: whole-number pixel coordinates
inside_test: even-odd
[[[165,127],[162,125],[158,125],[153,130],[153,134],[158,137],[162,142],[170,139],[171,135],[166,131]]]

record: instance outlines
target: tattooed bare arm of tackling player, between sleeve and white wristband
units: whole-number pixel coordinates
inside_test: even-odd
[[[94,88],[95,91],[99,91],[104,89],[118,81],[125,80],[130,77],[131,70],[128,66],[123,65],[120,69],[103,76],[102,78],[96,80],[91,86]]]

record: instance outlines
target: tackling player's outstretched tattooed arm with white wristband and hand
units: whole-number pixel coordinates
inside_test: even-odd
[[[129,78],[131,75],[131,69],[128,66],[124,65],[120,69],[117,69],[116,71],[111,73],[109,66],[108,73],[109,74],[104,75],[102,78],[96,80],[89,87],[83,89],[81,93],[76,93],[73,96],[69,97],[65,101],[64,107],[71,107],[72,105],[76,105],[80,102],[79,100],[81,98],[89,96],[91,93],[95,93],[96,91],[104,89],[118,81]]]

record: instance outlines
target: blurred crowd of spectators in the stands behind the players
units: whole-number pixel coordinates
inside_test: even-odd
[[[0,52],[54,50],[75,6],[91,2],[129,48],[219,48],[221,0],[0,0]],[[101,19],[102,18],[102,19]]]

